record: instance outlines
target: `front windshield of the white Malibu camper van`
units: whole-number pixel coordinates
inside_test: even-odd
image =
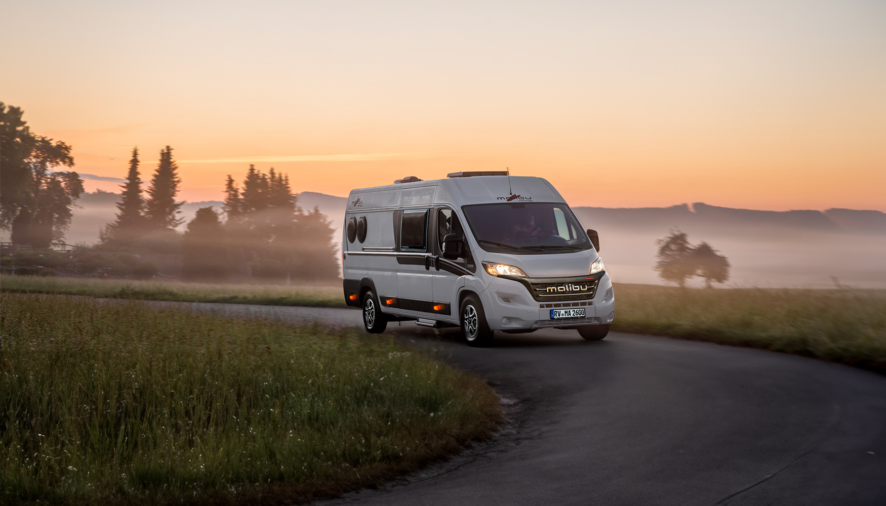
[[[562,203],[496,203],[462,206],[481,248],[493,253],[565,253],[591,242]]]

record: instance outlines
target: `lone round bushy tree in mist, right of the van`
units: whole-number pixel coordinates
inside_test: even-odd
[[[653,269],[664,281],[683,287],[689,277],[700,276],[711,288],[712,281],[726,283],[729,279],[729,261],[704,241],[694,246],[685,232],[672,230],[668,237],[657,239],[656,244],[658,253]]]

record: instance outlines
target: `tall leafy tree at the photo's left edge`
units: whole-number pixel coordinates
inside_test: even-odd
[[[71,146],[31,133],[19,107],[0,102],[0,225],[11,228],[12,241],[48,247],[64,237],[71,208],[83,192]]]

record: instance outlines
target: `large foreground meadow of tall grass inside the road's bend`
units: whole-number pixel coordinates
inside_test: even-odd
[[[486,384],[384,338],[4,293],[0,503],[302,502],[487,437]]]

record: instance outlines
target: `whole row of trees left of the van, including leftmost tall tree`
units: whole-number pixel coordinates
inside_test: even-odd
[[[72,208],[83,192],[71,146],[33,134],[18,107],[0,102],[0,226],[12,242],[47,248],[64,237]],[[141,161],[133,148],[113,222],[95,246],[106,252],[183,253],[183,276],[197,280],[245,277],[330,279],[338,277],[333,229],[318,209],[297,205],[288,175],[249,166],[243,183],[228,175],[221,213],[198,209],[183,223],[176,201],[182,183],[173,149],[159,162],[143,190]]]

